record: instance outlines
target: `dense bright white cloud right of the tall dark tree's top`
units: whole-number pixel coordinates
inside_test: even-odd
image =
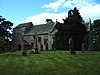
[[[89,18],[91,18],[91,20],[96,20],[96,19],[100,19],[100,4],[97,5],[89,5],[89,6],[83,6],[80,9],[80,14],[82,15],[82,17],[84,18],[85,21],[88,21]]]

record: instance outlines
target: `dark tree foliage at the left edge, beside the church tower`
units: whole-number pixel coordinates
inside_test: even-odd
[[[5,18],[0,16],[0,37],[2,37],[6,41],[6,46],[8,47],[11,45],[10,40],[12,39],[12,34],[11,34],[12,26],[13,26],[13,23],[11,23],[10,21],[6,21]],[[3,42],[2,44],[5,45],[5,42]]]

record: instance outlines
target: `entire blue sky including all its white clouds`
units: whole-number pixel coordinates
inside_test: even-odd
[[[0,0],[0,15],[17,26],[32,22],[44,24],[46,19],[63,23],[70,9],[77,7],[85,22],[100,19],[100,0]]]

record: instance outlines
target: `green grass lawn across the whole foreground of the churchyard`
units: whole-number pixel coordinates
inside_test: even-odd
[[[21,51],[0,54],[0,75],[100,75],[100,52]]]

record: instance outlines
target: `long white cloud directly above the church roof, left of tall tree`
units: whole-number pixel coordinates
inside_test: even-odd
[[[26,20],[24,20],[21,23],[32,22],[33,25],[45,24],[46,19],[52,19],[54,22],[56,22],[56,19],[57,19],[59,22],[63,22],[62,19],[64,19],[65,17],[67,17],[67,12],[63,12],[60,14],[41,13],[41,14],[27,17]]]

